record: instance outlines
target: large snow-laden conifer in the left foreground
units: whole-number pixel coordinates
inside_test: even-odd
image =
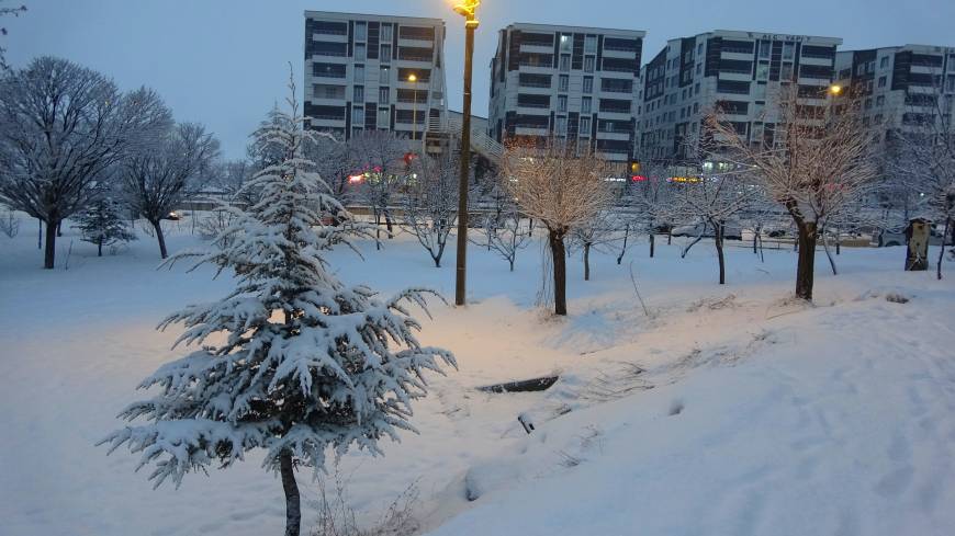
[[[415,337],[420,326],[407,304],[424,307],[426,290],[380,299],[366,286],[346,286],[330,270],[324,252],[334,243],[350,246],[347,235],[356,227],[302,156],[313,134],[303,128],[289,85],[288,121],[267,123],[255,134],[282,147],[283,159],[250,181],[261,192],[258,203],[237,212],[236,224],[218,239],[222,249],[199,256],[192,267],[233,270],[235,289],[159,326],[184,324],[177,344],[209,344],[212,334],[224,334],[222,342],[146,378],[141,388],[161,391],[121,417],[148,422],[113,432],[101,444],[109,443],[110,452],[126,444],[142,453],[139,467],[154,464],[149,478],[157,487],[167,479],[178,486],[187,472],[215,460],[227,467],[248,451],[265,449],[263,467],[282,479],[285,534],[297,536],[294,468],[312,467],[317,477],[327,449],[341,455],[357,446],[381,454],[379,440],[414,431],[411,402],[426,394],[425,370],[441,373],[441,362],[456,363],[450,352],[422,346]],[[323,225],[329,213],[345,224]]]

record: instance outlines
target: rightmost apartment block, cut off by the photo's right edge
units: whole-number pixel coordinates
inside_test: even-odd
[[[952,128],[955,47],[905,45],[836,55],[839,83],[861,99],[864,121],[892,132]]]

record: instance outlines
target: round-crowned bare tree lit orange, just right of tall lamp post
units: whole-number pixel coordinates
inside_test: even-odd
[[[581,149],[577,155],[577,149]],[[521,209],[548,230],[553,260],[554,313],[566,315],[566,248],[564,239],[613,199],[606,179],[610,167],[584,147],[559,139],[542,144],[513,142],[504,153],[507,187]]]

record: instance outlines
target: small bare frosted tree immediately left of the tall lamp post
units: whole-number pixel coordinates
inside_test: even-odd
[[[404,225],[431,255],[435,267],[451,229],[458,225],[458,173],[460,162],[451,151],[422,156],[412,166],[404,196]]]

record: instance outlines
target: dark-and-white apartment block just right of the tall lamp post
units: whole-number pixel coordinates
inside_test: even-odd
[[[491,61],[488,135],[563,137],[611,161],[632,156],[644,32],[516,23]]]

